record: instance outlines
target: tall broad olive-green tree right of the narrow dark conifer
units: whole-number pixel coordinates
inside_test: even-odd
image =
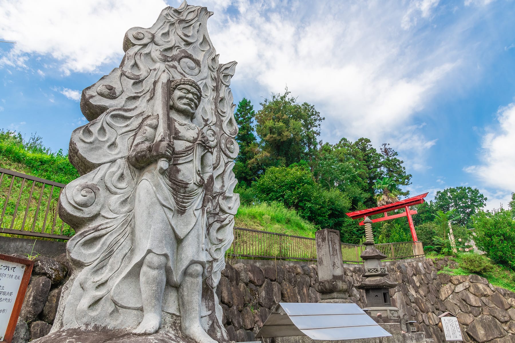
[[[257,157],[264,165],[270,165],[270,160],[277,160],[277,166],[314,160],[324,118],[313,105],[299,104],[290,94],[287,88],[283,94],[272,94],[270,100],[261,102],[262,109],[256,113],[256,133],[263,150]]]

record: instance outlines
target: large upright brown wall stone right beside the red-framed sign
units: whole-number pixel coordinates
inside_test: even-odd
[[[46,276],[38,276],[32,278],[27,292],[25,293],[25,299],[23,300],[22,310],[20,311],[20,317],[23,320],[30,322],[41,313],[45,306],[48,298],[48,292],[52,281]]]

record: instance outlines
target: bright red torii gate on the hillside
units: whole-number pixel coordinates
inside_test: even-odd
[[[427,193],[429,193],[429,192],[427,192]],[[378,207],[372,207],[372,208],[368,208],[366,210],[361,210],[361,211],[349,212],[346,214],[348,216],[350,216],[350,218],[352,218],[352,219],[358,219],[358,218],[367,217],[367,216],[374,215],[374,214],[384,213],[383,217],[372,219],[372,223],[377,223],[377,222],[382,222],[385,220],[390,220],[390,219],[401,218],[403,216],[407,216],[409,229],[411,230],[411,237],[413,237],[414,242],[417,242],[418,241],[417,240],[417,232],[415,232],[415,225],[413,224],[413,218],[411,218],[412,214],[417,214],[417,210],[410,210],[409,206],[422,204],[424,202],[424,197],[427,196],[427,193],[420,194],[420,195],[417,195],[414,197],[410,197],[410,198],[407,198],[404,200],[400,200],[400,201],[397,201],[397,202],[394,202],[391,204],[378,206]],[[402,213],[398,213],[398,214],[393,214],[393,215],[388,215],[388,213],[387,213],[389,211],[398,210],[400,208],[404,208],[406,211],[402,212]],[[359,223],[359,225],[363,225],[363,222]]]

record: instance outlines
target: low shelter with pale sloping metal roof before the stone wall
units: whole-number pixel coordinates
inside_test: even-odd
[[[304,335],[319,340],[391,336],[353,303],[280,302],[256,338]]]

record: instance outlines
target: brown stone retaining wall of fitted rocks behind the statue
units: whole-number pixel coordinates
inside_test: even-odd
[[[17,256],[21,257],[21,256]],[[317,302],[317,266],[252,263],[227,264],[217,290],[224,309],[224,324],[236,341],[253,340],[278,302]],[[445,258],[388,265],[390,278],[400,284],[390,290],[393,305],[404,320],[416,320],[426,338],[443,343],[438,315],[457,315],[465,342],[515,342],[515,293],[495,287],[482,277],[437,274],[456,263]],[[64,255],[56,259],[38,257],[32,272],[13,343],[26,343],[48,333],[55,318],[68,264]],[[361,265],[345,268],[348,281],[358,284]],[[361,308],[365,294],[352,287],[350,299]]]

